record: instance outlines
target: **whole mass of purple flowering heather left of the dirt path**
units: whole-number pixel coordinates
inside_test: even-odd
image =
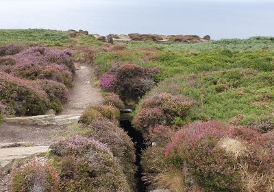
[[[5,48],[8,54],[0,58],[0,99],[8,108],[16,115],[42,115],[47,108],[62,109],[75,70],[71,51],[47,47],[18,51],[15,45]]]

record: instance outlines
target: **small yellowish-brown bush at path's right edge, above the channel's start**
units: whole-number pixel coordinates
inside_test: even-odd
[[[114,106],[92,106],[90,108],[99,111],[104,118],[111,121],[118,120],[121,115],[120,110]]]

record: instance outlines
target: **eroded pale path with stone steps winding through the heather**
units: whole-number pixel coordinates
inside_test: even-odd
[[[46,152],[47,146],[59,139],[60,132],[66,133],[66,125],[62,125],[62,122],[77,121],[85,108],[101,104],[103,99],[100,89],[92,86],[91,82],[92,75],[94,75],[92,67],[81,63],[76,63],[75,66],[77,71],[69,101],[58,116],[42,117],[42,121],[38,121],[42,124],[34,123],[36,121],[33,119],[18,119],[15,123],[0,125],[0,192],[7,190],[6,180],[1,177],[1,169],[3,165],[9,163],[9,160],[12,163],[14,154],[16,154],[14,158],[20,158],[20,156],[25,158],[39,152]],[[23,143],[23,145],[18,146],[18,143]],[[10,150],[7,146],[10,146]]]

